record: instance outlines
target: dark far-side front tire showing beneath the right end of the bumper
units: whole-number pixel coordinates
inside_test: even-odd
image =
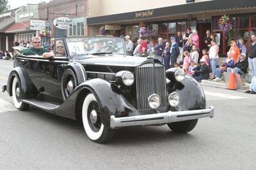
[[[185,120],[182,122],[173,122],[167,125],[173,132],[186,133],[192,131],[195,128],[197,121],[198,119]]]

